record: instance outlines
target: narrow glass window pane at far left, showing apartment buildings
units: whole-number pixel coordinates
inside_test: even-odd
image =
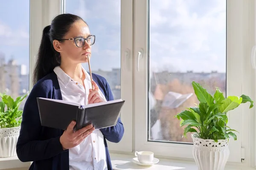
[[[16,99],[29,91],[29,0],[1,3],[0,39],[0,93]]]

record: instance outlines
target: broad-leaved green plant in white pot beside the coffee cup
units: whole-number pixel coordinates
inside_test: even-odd
[[[193,139],[193,157],[199,170],[224,170],[230,151],[228,142],[230,137],[236,140],[236,130],[227,126],[227,112],[237,108],[241,103],[253,100],[249,96],[224,97],[219,88],[212,96],[199,83],[192,82],[195,95],[199,100],[196,107],[187,108],[175,117],[180,126],[185,126],[184,136],[188,132]]]

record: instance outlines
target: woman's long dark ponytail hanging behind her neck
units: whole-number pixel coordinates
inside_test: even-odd
[[[51,25],[46,26],[43,30],[33,73],[33,85],[35,85],[39,79],[51,73],[56,66],[61,64],[61,58],[59,57],[58,52],[53,48],[52,41],[50,40],[50,29]]]

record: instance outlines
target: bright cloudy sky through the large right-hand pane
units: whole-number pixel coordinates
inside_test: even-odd
[[[226,70],[224,0],[151,0],[150,27],[152,69]]]

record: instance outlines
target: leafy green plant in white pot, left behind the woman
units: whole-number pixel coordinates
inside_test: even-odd
[[[0,96],[0,157],[15,156],[23,113],[19,106],[27,94],[17,97],[16,100],[6,94]]]

